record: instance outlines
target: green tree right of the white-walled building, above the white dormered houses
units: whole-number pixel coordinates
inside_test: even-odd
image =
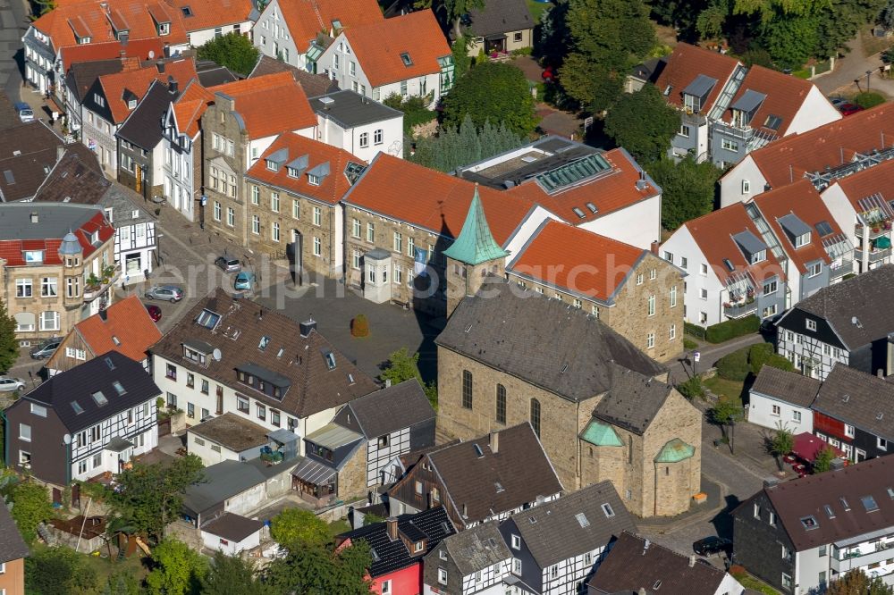
[[[668,157],[645,165],[645,171],[662,188],[662,227],[673,231],[683,223],[711,213],[714,189],[721,170],[711,162],[696,163],[688,155],[679,163]]]

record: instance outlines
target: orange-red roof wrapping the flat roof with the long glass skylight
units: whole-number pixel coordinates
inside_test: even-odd
[[[658,195],[659,190],[649,180],[645,180],[643,189],[637,188],[642,170],[624,149],[612,149],[603,153],[603,157],[611,164],[611,173],[590,182],[550,195],[535,180],[528,180],[508,192],[510,195],[540,203],[573,224],[591,221]],[[588,202],[598,209],[595,214],[586,208],[585,204]],[[583,211],[584,217],[573,211],[575,207]]]

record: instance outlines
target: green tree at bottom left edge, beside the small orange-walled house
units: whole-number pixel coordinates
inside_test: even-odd
[[[97,589],[97,571],[70,548],[38,547],[25,558],[25,587],[34,595],[70,595]]]

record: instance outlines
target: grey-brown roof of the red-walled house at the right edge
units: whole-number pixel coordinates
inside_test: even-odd
[[[894,440],[894,383],[836,365],[822,382],[814,411],[831,415],[865,432]]]

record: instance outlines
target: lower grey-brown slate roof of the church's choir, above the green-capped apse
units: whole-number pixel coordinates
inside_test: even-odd
[[[611,389],[599,400],[593,415],[604,422],[642,435],[671,394],[671,386],[651,376],[609,365]]]

